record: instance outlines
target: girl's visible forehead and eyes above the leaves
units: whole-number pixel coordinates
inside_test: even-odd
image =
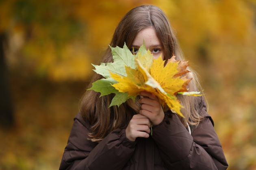
[[[145,42],[145,46],[147,50],[150,50],[153,54],[153,57],[157,59],[163,52],[163,47],[156,36],[156,31],[153,27],[147,27],[141,30],[137,36],[135,37],[134,41],[132,42],[132,48],[130,49],[132,53],[137,53],[139,47],[143,45],[143,40]],[[162,59],[164,56],[162,55]]]

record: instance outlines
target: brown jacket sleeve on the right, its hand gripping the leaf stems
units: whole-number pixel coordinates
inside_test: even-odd
[[[206,112],[203,98],[200,99],[200,122],[192,135],[176,114],[169,115],[153,128],[153,136],[168,169],[226,170],[228,164],[221,144],[213,128],[213,120]]]

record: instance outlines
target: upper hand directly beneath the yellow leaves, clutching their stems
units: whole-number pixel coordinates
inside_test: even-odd
[[[138,101],[141,104],[139,113],[148,117],[153,125],[161,123],[165,117],[165,113],[158,97],[147,91],[141,91],[140,96],[143,96],[143,98]]]

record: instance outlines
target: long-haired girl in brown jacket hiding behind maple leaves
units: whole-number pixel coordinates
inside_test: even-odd
[[[124,43],[137,53],[145,42],[154,58],[167,61],[173,54],[183,60],[178,41],[163,11],[153,5],[130,10],[115,29],[112,47]],[[102,62],[113,62],[108,48]],[[188,89],[200,89],[195,73]],[[102,79],[95,74],[92,81]],[[224,170],[228,167],[221,144],[206,112],[202,96],[179,96],[185,118],[163,110],[158,98],[141,92],[108,108],[113,95],[99,97],[93,90],[81,100],[61,160],[61,170]],[[153,124],[154,135],[150,136]],[[191,132],[191,134],[190,134]]]

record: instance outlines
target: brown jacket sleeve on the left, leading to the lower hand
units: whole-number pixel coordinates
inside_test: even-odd
[[[114,130],[99,144],[87,138],[90,131],[78,113],[61,160],[60,170],[119,170],[132,156],[136,142],[125,130]],[[118,161],[117,161],[118,160]]]

